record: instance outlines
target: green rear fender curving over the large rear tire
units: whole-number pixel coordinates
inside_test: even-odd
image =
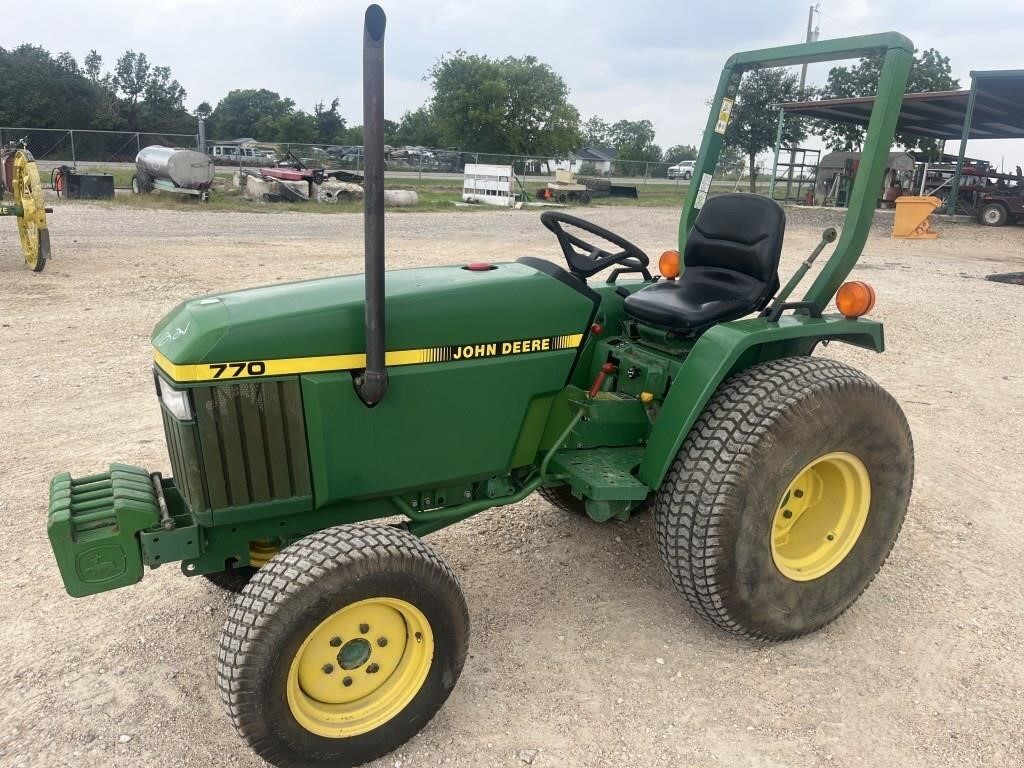
[[[690,428],[725,379],[758,362],[810,354],[821,341],[842,341],[876,352],[885,349],[881,323],[839,314],[783,315],[778,323],[758,317],[723,323],[707,331],[686,356],[665,398],[639,478],[651,488],[662,484]]]

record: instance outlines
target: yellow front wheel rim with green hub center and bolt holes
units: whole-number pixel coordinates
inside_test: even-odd
[[[367,733],[413,700],[433,656],[433,632],[419,608],[391,597],[360,600],[321,622],[299,647],[288,706],[317,735]]]

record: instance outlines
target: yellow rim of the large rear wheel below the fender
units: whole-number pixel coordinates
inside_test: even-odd
[[[871,506],[867,468],[853,454],[825,454],[786,487],[771,527],[771,555],[796,582],[823,577],[850,554]]]

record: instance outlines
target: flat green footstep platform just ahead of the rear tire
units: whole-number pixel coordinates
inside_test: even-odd
[[[549,472],[565,477],[572,489],[597,502],[639,502],[650,493],[633,474],[643,461],[643,447],[559,451]]]

